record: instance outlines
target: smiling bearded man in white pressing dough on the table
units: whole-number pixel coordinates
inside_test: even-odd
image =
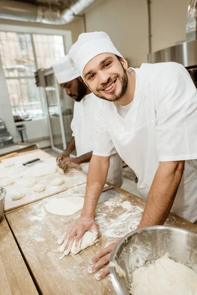
[[[69,59],[100,99],[97,137],[81,217],[67,231],[66,250],[96,230],[97,203],[114,148],[138,177],[146,202],[138,228],[162,225],[171,212],[197,220],[197,89],[183,65],[143,63],[129,68],[104,32],[83,33]],[[94,193],[93,193],[94,192]],[[98,231],[98,229],[97,229]],[[90,260],[101,279],[120,238]]]

